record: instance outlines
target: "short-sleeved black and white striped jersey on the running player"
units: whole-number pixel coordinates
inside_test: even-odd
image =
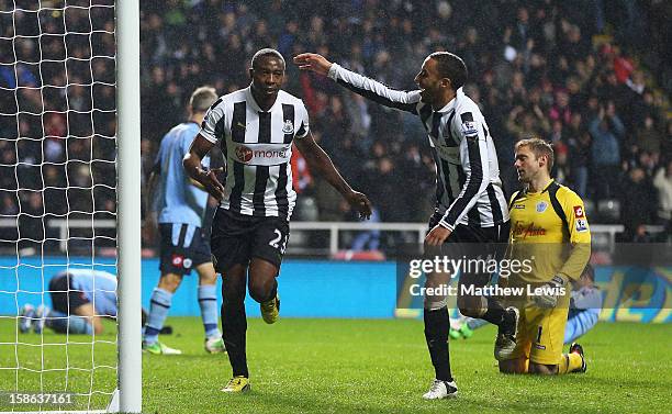
[[[200,134],[219,143],[227,175],[221,209],[245,215],[289,219],[296,201],[292,188],[292,141],[309,134],[303,102],[284,91],[262,111],[249,87],[220,98],[208,111]]]

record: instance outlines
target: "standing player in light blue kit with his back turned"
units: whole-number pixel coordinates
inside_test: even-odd
[[[199,273],[198,298],[205,350],[211,354],[225,351],[217,326],[217,276],[212,266],[210,242],[202,228],[208,192],[192,181],[182,168],[182,158],[199,133],[205,112],[216,99],[214,88],[202,87],[193,91],[189,100],[189,120],[172,127],[161,139],[145,192],[147,205],[153,208],[147,215],[145,231],[154,233],[158,220],[161,240],[161,277],[152,292],[143,334],[143,350],[149,354],[182,354],[159,342],[158,336],[168,316],[172,295],[184,275],[191,273],[192,269]],[[202,163],[209,167],[210,158],[205,157]],[[155,191],[157,187],[158,191]]]

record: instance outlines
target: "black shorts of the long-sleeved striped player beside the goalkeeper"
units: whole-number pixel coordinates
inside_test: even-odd
[[[439,212],[434,212],[429,217],[429,230],[434,228],[441,220]],[[459,248],[452,249],[448,246],[449,255],[467,258],[491,258],[500,260],[506,253],[511,222],[495,224],[492,227],[480,227],[473,225],[458,224],[445,244],[459,244]],[[460,276],[460,284],[474,284],[483,287],[490,282],[492,275],[479,272],[464,272]],[[461,291],[461,289],[460,289]]]

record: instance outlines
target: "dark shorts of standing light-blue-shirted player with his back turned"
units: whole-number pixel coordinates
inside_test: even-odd
[[[201,227],[182,223],[160,223],[161,273],[189,275],[211,260],[210,243]]]

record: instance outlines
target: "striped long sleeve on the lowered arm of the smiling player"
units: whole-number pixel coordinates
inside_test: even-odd
[[[462,112],[455,116],[453,124],[449,127],[460,137],[460,161],[466,176],[460,194],[439,221],[441,226],[452,231],[473,209],[488,188],[490,183],[490,160],[488,159],[488,139],[484,126],[474,121],[472,112]]]

